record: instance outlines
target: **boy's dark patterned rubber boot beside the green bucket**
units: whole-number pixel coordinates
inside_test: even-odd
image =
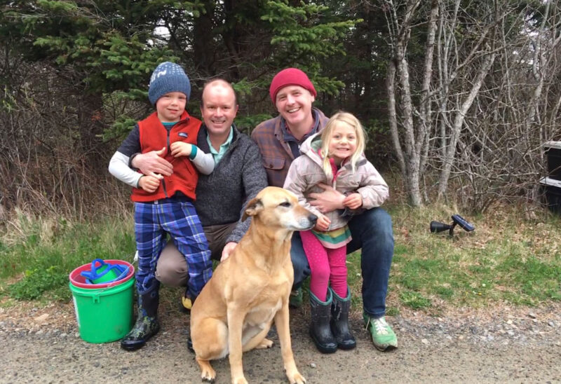
[[[148,339],[160,330],[157,317],[160,301],[158,288],[159,284],[156,284],[151,291],[138,296],[138,317],[135,326],[121,340],[121,348],[124,350],[142,348]]]

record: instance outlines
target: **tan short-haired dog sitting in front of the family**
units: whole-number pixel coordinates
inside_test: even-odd
[[[313,227],[316,215],[283,188],[269,186],[248,203],[248,233],[219,264],[191,309],[191,340],[203,380],[215,380],[210,360],[229,355],[232,383],[247,383],[242,352],[269,348],[265,336],[275,322],[286,376],[305,383],[290,345],[288,296],[294,273],[290,262],[293,231]]]

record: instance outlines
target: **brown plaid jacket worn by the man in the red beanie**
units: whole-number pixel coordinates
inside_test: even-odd
[[[312,113],[315,115],[319,132],[323,130],[329,118],[317,108],[312,108]],[[257,143],[259,151],[261,151],[269,185],[283,188],[288,168],[295,158],[290,145],[285,141],[283,118],[279,115],[260,123],[251,132],[251,138]]]

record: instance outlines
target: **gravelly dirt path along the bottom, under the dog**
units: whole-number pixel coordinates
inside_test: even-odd
[[[187,315],[162,316],[163,330],[146,347],[88,344],[77,336],[71,306],[0,308],[1,383],[200,383],[187,350]],[[306,310],[291,315],[297,366],[308,383],[561,383],[560,306],[497,308],[428,317],[389,317],[399,337],[393,352],[374,350],[360,322],[358,347],[321,355],[307,335]],[[305,319],[305,320],[304,320]],[[278,338],[243,357],[250,383],[288,383]],[[229,383],[226,359],[213,364]]]

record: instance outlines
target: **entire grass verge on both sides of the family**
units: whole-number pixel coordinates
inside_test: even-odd
[[[390,210],[396,245],[386,302],[388,315],[410,308],[480,308],[506,303],[539,306],[561,300],[561,219],[541,212],[528,221],[515,208],[466,219],[475,231],[450,238],[428,223],[447,222],[445,207]],[[497,213],[499,212],[499,213]],[[0,295],[16,300],[67,301],[68,274],[95,258],[132,261],[132,219],[69,224],[20,217],[0,238]],[[362,309],[360,252],[347,259],[353,308]],[[307,287],[305,284],[304,287]],[[1,300],[0,300],[1,303]]]

